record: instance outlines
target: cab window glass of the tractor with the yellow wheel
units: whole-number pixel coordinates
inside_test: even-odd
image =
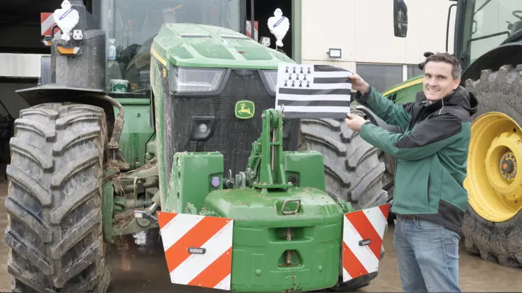
[[[467,0],[461,26],[461,63],[464,68],[509,36],[522,33],[521,0]]]

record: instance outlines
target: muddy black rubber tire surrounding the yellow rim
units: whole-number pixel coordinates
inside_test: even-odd
[[[483,70],[479,80],[466,80],[465,87],[479,100],[472,119],[487,112],[502,112],[522,125],[521,65]],[[522,266],[522,211],[505,222],[494,223],[479,216],[468,204],[462,229],[465,247],[471,253],[504,266]]]

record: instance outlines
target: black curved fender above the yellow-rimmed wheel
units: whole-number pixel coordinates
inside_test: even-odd
[[[518,64],[522,64],[522,43],[516,42],[500,45],[484,53],[471,63],[462,75],[461,85],[464,86],[466,80],[469,79],[479,80],[484,69],[495,71],[504,65],[516,67]]]

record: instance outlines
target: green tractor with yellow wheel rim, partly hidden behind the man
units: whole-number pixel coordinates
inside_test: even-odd
[[[456,3],[449,7],[447,26],[451,8],[456,8],[454,54],[463,66],[461,85],[479,100],[464,183],[469,193],[462,215],[465,248],[484,260],[522,266],[522,172],[517,169],[522,162],[522,1],[452,1]],[[393,3],[398,15],[403,1]],[[407,17],[396,22],[396,36],[405,36],[403,22]],[[383,95],[397,104],[408,103],[422,87],[420,75]],[[401,131],[357,107],[381,127]],[[392,176],[394,165],[394,158],[387,157]]]

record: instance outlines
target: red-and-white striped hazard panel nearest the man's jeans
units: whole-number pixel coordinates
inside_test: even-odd
[[[343,282],[377,271],[390,204],[345,213],[342,230]]]

